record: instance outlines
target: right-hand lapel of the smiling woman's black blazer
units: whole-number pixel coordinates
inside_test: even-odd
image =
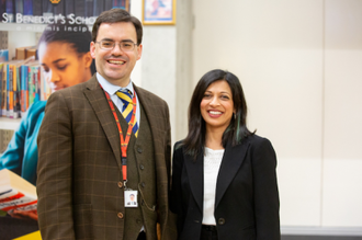
[[[215,208],[223,198],[235,174],[239,171],[248,148],[248,141],[234,147],[230,141],[227,142],[216,182]]]

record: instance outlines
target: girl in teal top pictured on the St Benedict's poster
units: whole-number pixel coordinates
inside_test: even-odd
[[[77,31],[72,31],[76,28]],[[87,25],[59,23],[46,27],[39,39],[37,54],[52,92],[84,82],[95,72],[89,52],[90,43],[91,33]],[[10,169],[34,185],[37,165],[36,139],[45,104],[46,101],[38,101],[29,107],[0,158],[0,170]]]

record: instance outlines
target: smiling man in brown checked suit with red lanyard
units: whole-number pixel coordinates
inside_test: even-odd
[[[168,186],[167,103],[137,88],[139,20],[100,14],[92,31],[97,75],[50,95],[38,135],[38,224],[44,240],[176,239]],[[122,144],[122,148],[121,148]],[[134,194],[138,207],[125,206]]]

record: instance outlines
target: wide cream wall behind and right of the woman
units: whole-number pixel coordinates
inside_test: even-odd
[[[282,226],[362,226],[362,1],[193,1],[193,85],[236,73],[279,158]]]

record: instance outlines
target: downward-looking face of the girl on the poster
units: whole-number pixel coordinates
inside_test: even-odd
[[[41,43],[38,58],[52,92],[91,78],[92,58],[90,53],[78,54],[68,43]]]

